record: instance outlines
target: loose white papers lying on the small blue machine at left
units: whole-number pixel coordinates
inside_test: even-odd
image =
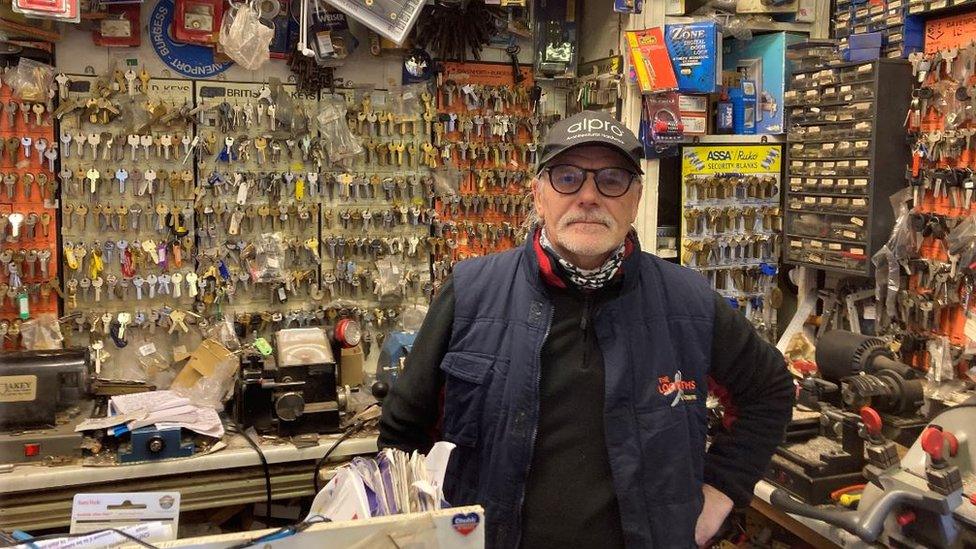
[[[190,403],[173,391],[150,391],[117,395],[109,401],[109,415],[83,421],[75,431],[107,429],[119,436],[140,427],[156,429],[182,427],[214,438],[224,436],[224,425],[213,408]]]

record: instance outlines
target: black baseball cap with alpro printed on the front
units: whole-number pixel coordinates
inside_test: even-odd
[[[542,145],[539,168],[545,167],[556,155],[581,145],[605,145],[616,149],[633,163],[637,173],[644,173],[640,167],[644,145],[627,126],[599,111],[583,111],[554,124]]]

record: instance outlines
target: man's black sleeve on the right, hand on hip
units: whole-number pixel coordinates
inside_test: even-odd
[[[748,505],[792,415],[793,377],[783,355],[718,294],[710,378],[725,428],[705,456],[705,482]]]

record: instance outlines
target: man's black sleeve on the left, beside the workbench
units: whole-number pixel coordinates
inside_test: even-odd
[[[444,374],[440,364],[451,341],[454,282],[449,277],[434,298],[407,355],[403,372],[383,400],[380,448],[427,453],[440,418]]]

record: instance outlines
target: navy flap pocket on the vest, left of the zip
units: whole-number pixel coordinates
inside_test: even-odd
[[[460,446],[478,444],[485,395],[495,358],[466,352],[444,355],[444,438]]]

